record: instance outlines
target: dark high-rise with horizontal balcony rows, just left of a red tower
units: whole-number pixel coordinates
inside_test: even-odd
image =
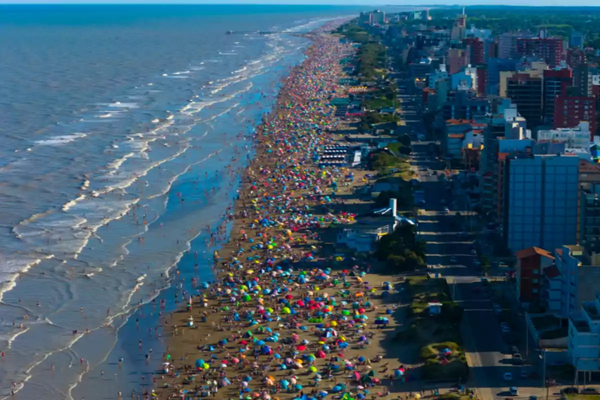
[[[506,79],[506,97],[517,105],[529,127],[542,122],[542,78],[518,73]]]

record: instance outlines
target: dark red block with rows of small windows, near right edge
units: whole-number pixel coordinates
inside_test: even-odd
[[[527,120],[529,121],[529,119]],[[554,129],[574,128],[587,121],[593,136],[596,132],[596,98],[560,95],[554,103]],[[590,137],[590,142],[593,142]]]

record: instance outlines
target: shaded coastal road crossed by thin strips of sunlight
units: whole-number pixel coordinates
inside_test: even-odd
[[[451,295],[464,309],[461,333],[470,366],[468,385],[476,387],[482,399],[504,399],[511,386],[520,392],[511,398],[541,398],[541,380],[520,378],[521,371],[529,374],[532,367],[512,363],[511,344],[505,341],[488,284],[476,267],[473,240],[480,233],[473,230],[470,218],[474,216],[466,210],[465,199],[457,195],[455,182],[440,178],[443,165],[430,154],[428,142],[413,142],[412,149],[413,170],[418,171],[424,191],[418,232],[427,242],[426,262],[434,273],[446,278]],[[506,372],[512,374],[512,381],[504,380]]]

